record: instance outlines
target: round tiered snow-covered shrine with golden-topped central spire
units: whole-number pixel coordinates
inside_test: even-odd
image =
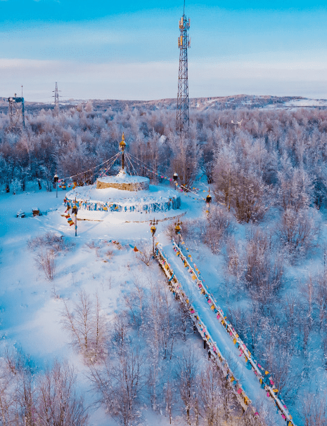
[[[76,202],[79,216],[83,211],[154,213],[181,207],[181,198],[176,191],[150,185],[148,178],[127,173],[125,147],[123,133],[120,142],[121,167],[117,175],[102,175],[94,185],[75,187],[66,194],[65,204],[72,207]]]

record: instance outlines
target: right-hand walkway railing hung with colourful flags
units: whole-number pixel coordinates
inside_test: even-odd
[[[182,244],[185,244],[184,240],[182,241]],[[176,253],[176,255],[179,258],[181,258],[181,261],[184,263],[184,267],[188,268],[188,271],[191,274],[192,280],[198,286],[198,290],[200,291],[200,293],[207,300],[207,303],[210,305],[210,309],[212,310],[214,315],[216,315],[216,317],[219,321],[219,324],[222,324],[226,333],[228,333],[231,340],[233,340],[233,344],[236,345],[236,347],[240,350],[239,356],[243,357],[243,359],[245,360],[245,366],[249,370],[251,370],[255,373],[257,380],[259,380],[262,388],[264,390],[267,390],[267,396],[272,397],[272,399],[274,399],[274,403],[275,403],[276,407],[278,408],[279,411],[281,411],[281,415],[285,416],[285,420],[286,419],[289,420],[289,421],[292,420],[292,416],[288,412],[288,410],[286,408],[286,404],[284,403],[283,399],[280,399],[277,396],[278,395],[278,389],[276,389],[276,387],[275,387],[274,380],[271,376],[271,373],[269,371],[265,370],[265,368],[261,364],[257,363],[257,361],[252,358],[251,352],[248,350],[248,348],[246,347],[243,340],[241,340],[241,338],[239,337],[236,330],[233,328],[231,323],[228,321],[227,317],[224,315],[222,308],[219,307],[219,305],[217,305],[217,303],[214,302],[215,299],[214,299],[213,295],[205,289],[205,285],[203,284],[204,280],[200,279],[201,274],[200,274],[198,267],[196,267],[196,265],[194,263],[193,263],[194,269],[193,269],[193,267],[191,267],[189,260],[191,260],[191,262],[193,262],[192,256],[189,254],[186,257],[186,255],[184,255],[184,253],[182,253],[181,248],[179,248],[179,246],[177,246],[177,244],[174,240],[172,240],[172,246],[173,246],[173,250]],[[188,248],[186,248],[186,250],[188,251]],[[290,424],[290,426],[294,425],[293,422],[290,422],[289,424]]]

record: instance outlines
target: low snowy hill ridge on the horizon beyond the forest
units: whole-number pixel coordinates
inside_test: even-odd
[[[69,109],[76,107],[81,103],[86,103],[85,100],[60,100],[61,109]],[[107,109],[120,111],[126,109],[176,109],[176,98],[167,98],[160,100],[91,100],[95,111],[105,112]],[[28,102],[25,100],[25,111],[27,114],[39,112],[41,109],[53,109],[53,103],[43,102]],[[240,109],[240,108],[327,108],[326,99],[311,99],[302,98],[299,96],[255,96],[255,95],[233,95],[233,96],[217,96],[212,98],[191,98],[190,109],[205,111],[208,109]],[[0,112],[6,114],[8,112],[8,99],[0,98]]]

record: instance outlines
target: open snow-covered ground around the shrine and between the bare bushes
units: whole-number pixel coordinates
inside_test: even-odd
[[[94,295],[98,293],[101,299],[101,308],[108,322],[113,321],[115,314],[124,309],[124,298],[131,291],[134,280],[149,273],[152,277],[162,277],[160,269],[155,262],[149,267],[143,265],[134,253],[132,246],[138,246],[142,240],[151,241],[149,222],[102,222],[79,221],[77,222],[77,237],[74,227],[70,227],[60,213],[63,211],[63,197],[65,192],[34,191],[19,193],[17,195],[0,195],[0,300],[1,300],[1,340],[0,350],[4,347],[15,346],[21,348],[42,370],[46,364],[54,359],[68,359],[79,371],[79,387],[88,389],[84,376],[86,366],[81,357],[73,352],[69,345],[69,336],[63,331],[60,324],[60,312],[63,309],[63,298],[74,302],[77,300],[79,290]],[[181,194],[183,212],[186,218],[197,218],[202,215],[204,201]],[[195,197],[196,198],[196,197]],[[39,208],[42,215],[32,217],[32,208]],[[27,213],[27,218],[15,218],[19,210]],[[104,212],[101,212],[104,213]],[[152,216],[150,217],[152,219]],[[164,233],[169,221],[159,222],[156,236],[163,244],[169,241]],[[323,225],[322,238],[327,237],[327,227]],[[37,250],[27,247],[27,241],[46,232],[56,232],[63,235],[70,247],[67,251],[58,254],[57,274],[53,281],[47,281],[44,273],[37,268],[35,258]],[[118,241],[121,246],[113,243]],[[165,251],[171,250],[168,246]],[[218,304],[227,309],[232,302],[228,295],[228,288],[222,274],[222,256],[213,255],[205,246],[198,246],[193,252],[205,284],[217,298]],[[174,262],[177,262],[174,260]],[[309,271],[309,263],[303,266],[303,273]],[[183,279],[184,271],[176,263],[177,272]],[[292,269],[288,269],[292,274]],[[202,309],[198,302],[198,293],[193,294],[193,301],[198,309]],[[57,297],[59,296],[59,297]],[[210,314],[210,312],[209,312]],[[207,317],[203,309],[203,317]],[[207,319],[211,321],[211,319]],[[246,319],[245,319],[246,321]],[[218,333],[218,332],[217,332]],[[220,336],[222,337],[222,336]],[[217,334],[217,343],[224,345],[224,338]],[[200,350],[200,339],[196,340]],[[227,347],[227,352],[234,350]],[[309,368],[309,377],[301,378],[296,385],[301,386],[301,392],[311,390],[312,382],[317,388],[326,387],[326,371],[314,359],[314,352],[309,354],[312,366]],[[259,361],[259,360],[258,360]],[[232,368],[232,366],[231,366]],[[274,372],[273,372],[274,376]],[[240,379],[246,380],[245,375]],[[244,384],[247,390],[247,384]],[[248,385],[250,390],[250,385]],[[91,401],[91,397],[88,397]],[[295,409],[299,408],[297,401]],[[301,420],[290,407],[290,412],[296,424],[301,425]],[[164,416],[153,413],[149,408],[144,408],[144,425],[167,425],[169,420]],[[90,425],[111,425],[110,420],[103,410],[91,411]],[[181,425],[184,424],[182,421]]]

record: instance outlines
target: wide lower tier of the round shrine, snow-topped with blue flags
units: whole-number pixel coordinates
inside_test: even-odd
[[[95,185],[77,187],[66,194],[66,204],[86,211],[153,213],[179,209],[181,198],[176,191],[150,185],[149,190],[135,192],[113,187],[97,189]]]

